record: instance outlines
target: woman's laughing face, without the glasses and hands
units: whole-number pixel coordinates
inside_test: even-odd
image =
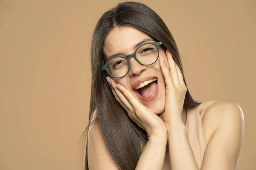
[[[145,40],[148,39],[148,40]],[[119,56],[127,56],[134,53],[139,42],[154,42],[151,37],[142,31],[130,27],[123,26],[121,28],[114,28],[105,38],[103,51],[107,57],[110,58],[113,54],[120,53]],[[159,58],[163,57],[164,61],[167,61],[166,50],[159,46]],[[149,108],[155,114],[160,114],[164,111],[165,105],[165,81],[159,65],[159,61],[152,65],[140,65],[134,57],[129,58],[130,70],[125,77],[112,78],[114,82],[124,86],[131,91],[132,94],[147,108]],[[166,62],[168,67],[168,64]],[[154,81],[157,79],[156,81]],[[148,80],[152,80],[148,81]],[[151,82],[138,90],[138,85],[145,81]],[[147,83],[144,83],[147,84]]]

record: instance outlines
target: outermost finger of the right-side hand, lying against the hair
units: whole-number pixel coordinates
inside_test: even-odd
[[[168,49],[166,49],[166,57],[167,57],[168,64],[170,67],[173,84],[175,85],[175,87],[177,87],[180,85],[179,77],[178,77],[177,69],[175,66],[175,61],[173,60],[172,54],[170,53],[170,51]]]

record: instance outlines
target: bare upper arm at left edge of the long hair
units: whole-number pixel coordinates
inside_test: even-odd
[[[96,112],[93,113],[96,119]],[[93,120],[92,119],[92,120]],[[87,139],[88,166],[92,170],[117,170],[102,137],[99,122],[89,127]]]

